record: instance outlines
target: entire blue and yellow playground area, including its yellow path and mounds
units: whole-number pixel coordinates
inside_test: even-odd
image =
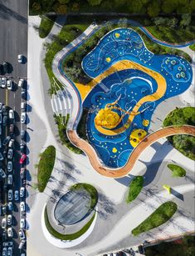
[[[111,168],[124,166],[147,135],[158,104],[183,93],[192,82],[192,68],[185,59],[149,52],[130,28],[106,34],[82,67],[93,78],[83,101],[83,107],[90,108],[86,133]]]

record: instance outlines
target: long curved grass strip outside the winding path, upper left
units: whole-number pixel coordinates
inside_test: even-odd
[[[58,90],[59,88],[55,88],[53,84],[53,79],[55,78],[52,69],[51,63],[53,58],[55,57],[56,53],[60,52],[62,48],[66,47],[67,44],[71,43],[75,38],[77,38],[81,33],[85,31],[89,24],[69,24],[65,25],[61,28],[61,32],[53,38],[52,43],[46,45],[46,58],[44,60],[46,72],[50,79],[51,89],[50,93],[56,93],[55,89]],[[58,86],[63,88],[63,85],[58,81]]]

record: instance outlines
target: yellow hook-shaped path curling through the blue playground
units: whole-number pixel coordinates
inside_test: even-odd
[[[154,101],[158,100],[159,98],[162,98],[164,93],[166,92],[167,83],[166,83],[165,78],[163,78],[163,76],[160,73],[158,73],[150,68],[146,68],[146,67],[140,65],[139,63],[134,63],[129,60],[123,60],[123,61],[119,61],[118,63],[113,64],[112,67],[105,70],[104,73],[101,73],[99,76],[94,78],[87,85],[90,86],[90,88],[92,88],[97,83],[100,83],[101,80],[103,80],[105,77],[109,76],[110,74],[115,73],[116,71],[119,71],[119,70],[127,69],[127,68],[138,69],[138,70],[143,71],[144,73],[148,73],[149,76],[151,76],[152,78],[154,78],[156,80],[157,85],[158,85],[158,88],[155,93],[153,93],[152,95],[147,95],[144,98],[141,98],[139,100],[139,102],[134,106],[132,112],[129,115],[129,119],[128,119],[128,123],[131,123],[134,119],[134,116],[138,113],[139,108],[144,103],[154,102]],[[110,136],[114,136],[119,133],[123,133],[126,130],[125,125],[121,128],[115,129],[115,130],[109,130],[109,129],[103,128],[101,126],[98,126],[96,124],[95,124],[95,128],[100,133],[103,133],[105,135],[110,135]]]

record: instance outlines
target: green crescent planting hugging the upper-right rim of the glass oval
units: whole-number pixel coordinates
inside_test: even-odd
[[[90,193],[90,198],[91,198],[91,202],[90,202],[90,210],[92,210],[93,208],[95,208],[95,205],[98,201],[98,192],[97,190],[91,186],[90,184],[87,183],[77,183],[73,186],[71,186],[71,190],[77,190],[77,189],[85,189],[88,193]]]

